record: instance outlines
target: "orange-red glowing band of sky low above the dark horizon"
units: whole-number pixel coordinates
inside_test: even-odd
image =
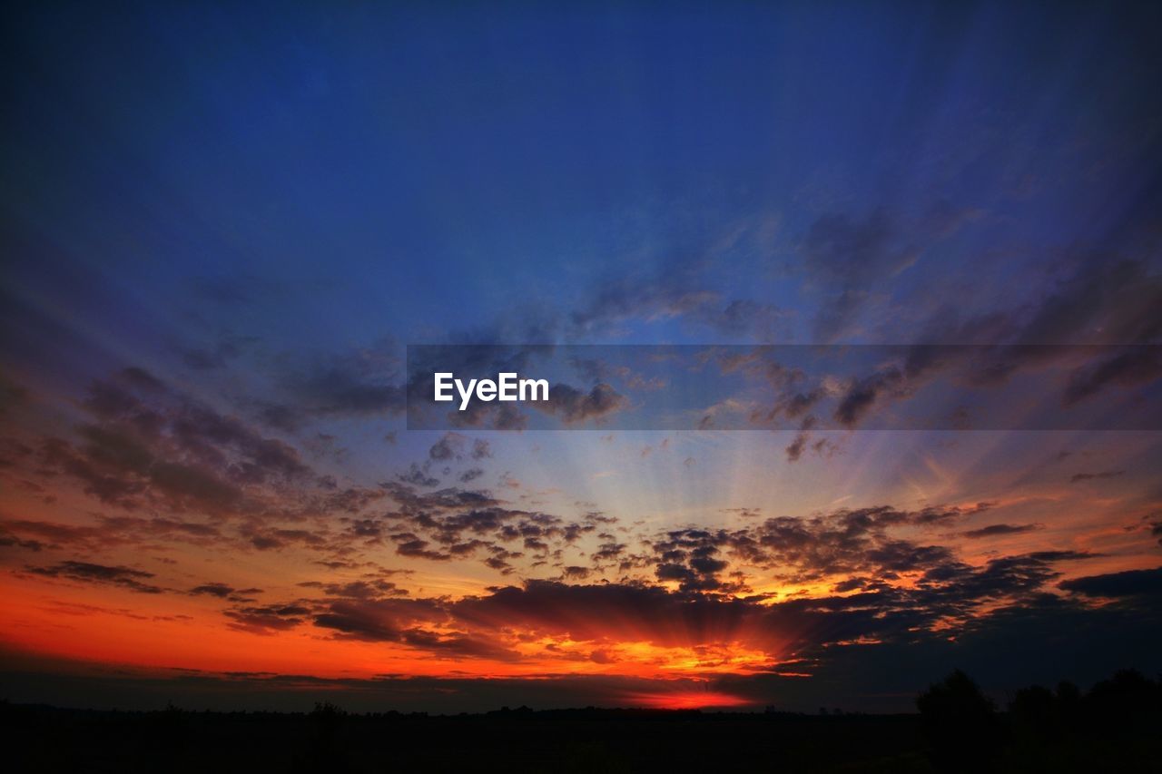
[[[593,596],[576,597],[575,609],[569,607],[568,600],[558,609],[550,599],[528,607],[483,605],[459,616],[450,610],[461,602],[493,600],[501,588],[526,588],[522,574],[536,578],[535,566],[516,567],[517,573],[510,575],[481,561],[433,562],[422,557],[403,557],[388,542],[352,540],[345,544],[347,553],[342,556],[358,558],[361,564],[346,561],[329,567],[320,560],[325,554],[315,552],[309,545],[254,550],[248,540],[231,532],[235,528],[230,526],[234,523],[230,518],[234,517],[198,522],[213,525],[214,539],[193,531],[178,533],[178,539],[166,533],[137,543],[135,536],[115,531],[108,519],[83,511],[88,500],[72,487],[63,487],[58,499],[51,502],[16,492],[7,493],[3,500],[0,516],[3,516],[2,526],[7,533],[38,542],[44,549],[8,554],[14,558],[13,564],[0,574],[0,645],[9,652],[117,668],[302,675],[329,680],[382,675],[536,680],[568,675],[709,681],[723,675],[770,673],[780,664],[795,662],[797,651],[816,636],[806,618],[794,615],[762,618],[755,611],[774,612],[780,605],[801,605],[813,614],[817,610],[802,603],[830,600],[839,604],[866,593],[860,582],[845,583],[859,581],[858,572],[796,575],[794,568],[768,566],[763,569],[741,561],[738,554],[723,547],[715,554],[730,565],[722,578],[737,578],[740,582],[731,590],[698,597],[697,604],[722,608],[705,618],[686,618],[681,605],[694,604],[691,597],[683,596],[677,581],[660,582],[648,565],[621,575],[607,569],[588,571],[582,580],[572,585],[583,586],[595,594],[601,589],[664,589],[665,599],[657,597],[653,602],[677,605],[670,611],[672,618],[654,615],[648,604],[622,604],[617,601],[621,597],[611,602]],[[1014,501],[1011,507],[1024,508],[1028,502],[1027,499]],[[1030,531],[1000,540],[1011,543],[1014,552],[1046,551],[1066,544],[1066,538],[1078,550],[1092,546],[1093,559],[1061,565],[1061,579],[1153,566],[1146,553],[1127,556],[1128,552],[1117,551],[1120,546],[1134,545],[1143,532],[1104,523],[1104,514],[1113,506],[1103,503],[1102,508],[1084,524],[1078,519],[1053,532]],[[21,514],[22,518],[13,518],[12,514]],[[150,525],[145,517],[132,518],[138,519],[135,524],[142,529]],[[178,521],[180,517],[164,518]],[[1024,518],[1050,522],[1050,516],[1040,511]],[[1127,517],[1127,521],[1131,518],[1141,522],[1140,515]],[[313,529],[327,539],[337,539],[344,521],[350,519],[292,521],[284,526],[302,530],[314,525]],[[741,528],[755,523],[741,522]],[[619,539],[648,545],[650,539],[665,533],[639,529],[641,531],[632,536],[623,529],[625,537]],[[977,567],[996,556],[996,549],[990,546],[998,543],[949,539],[947,528],[937,529],[944,531],[925,532],[924,526],[905,525],[901,532],[919,545],[945,540],[964,561]],[[81,547],[69,552],[51,545],[70,540]],[[584,557],[597,547],[598,540],[582,536],[564,550]],[[49,572],[62,561],[92,562],[106,571],[130,574],[109,580]],[[128,582],[123,582],[125,579]],[[571,586],[559,580],[552,582],[560,583],[561,588]],[[904,593],[921,592],[925,582],[923,569],[901,569],[889,580],[881,581],[883,587]],[[144,583],[152,590],[142,593],[132,583]],[[195,593],[207,583],[238,590]],[[359,583],[381,586],[363,587],[364,592],[378,589],[363,596],[358,589],[353,594],[335,590]],[[396,603],[402,612],[392,607]],[[987,615],[1005,603],[1004,600],[983,600],[971,615]],[[338,615],[336,608],[342,605],[366,615],[360,621],[333,621]],[[261,622],[248,623],[236,617],[239,610],[249,608],[294,607],[302,611],[285,618],[273,615],[270,625],[265,626]],[[744,608],[745,615],[734,614]],[[819,608],[824,609],[825,605]],[[327,616],[331,616],[333,625],[321,623]],[[777,624],[772,625],[770,621]],[[956,617],[939,618],[931,629],[953,635],[962,623]],[[830,644],[870,646],[880,642],[876,637],[856,635]],[[809,678],[810,673],[810,667],[803,667],[780,674]],[[659,709],[730,708],[749,703],[709,688],[637,691],[622,695],[621,700]]]

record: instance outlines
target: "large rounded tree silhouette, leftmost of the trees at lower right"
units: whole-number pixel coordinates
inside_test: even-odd
[[[956,669],[916,698],[920,731],[938,766],[978,771],[1003,740],[992,700],[967,674]]]

